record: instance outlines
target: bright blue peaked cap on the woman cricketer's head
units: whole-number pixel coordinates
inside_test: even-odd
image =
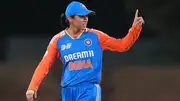
[[[66,8],[65,15],[66,18],[72,15],[88,15],[88,14],[95,14],[94,11],[89,10],[86,6],[78,1],[72,1]]]

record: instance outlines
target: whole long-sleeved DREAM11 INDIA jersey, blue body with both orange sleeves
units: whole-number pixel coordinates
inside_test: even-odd
[[[50,41],[47,51],[36,68],[28,89],[37,90],[55,60],[63,63],[62,87],[81,82],[101,81],[104,50],[125,52],[137,40],[142,27],[131,27],[122,39],[116,39],[96,30],[85,29],[72,37],[65,29]]]

